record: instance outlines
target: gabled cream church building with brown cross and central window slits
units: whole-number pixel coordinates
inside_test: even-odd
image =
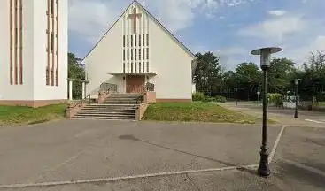
[[[191,102],[195,55],[134,1],[82,60],[87,95],[106,82],[120,94],[154,84],[157,102]]]

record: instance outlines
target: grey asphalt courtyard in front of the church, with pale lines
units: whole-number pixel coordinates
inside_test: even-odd
[[[3,127],[0,190],[325,190],[325,129],[269,126],[268,179],[256,176],[260,134],[97,120]]]

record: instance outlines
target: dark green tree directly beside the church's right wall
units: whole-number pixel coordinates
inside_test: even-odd
[[[197,53],[197,68],[193,75],[193,81],[197,84],[197,91],[212,94],[213,89],[221,84],[221,65],[219,57],[212,52]]]

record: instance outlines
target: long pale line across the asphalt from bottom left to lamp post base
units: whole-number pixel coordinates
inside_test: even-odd
[[[55,182],[28,183],[28,184],[9,184],[9,185],[0,185],[0,188],[50,187],[50,186],[62,186],[62,185],[73,185],[73,184],[110,182],[110,181],[117,181],[117,180],[133,180],[133,179],[140,179],[140,178],[159,177],[159,176],[166,176],[166,175],[179,175],[179,174],[188,174],[188,173],[197,173],[197,172],[229,171],[229,170],[236,170],[240,168],[255,168],[257,166],[259,165],[251,164],[251,165],[244,165],[244,166],[228,166],[228,167],[210,168],[210,169],[202,169],[202,170],[149,173],[149,174],[104,178],[104,179],[67,180],[67,181],[55,181]]]

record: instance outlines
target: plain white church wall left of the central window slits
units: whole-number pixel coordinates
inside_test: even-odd
[[[123,79],[108,74],[121,73],[123,70],[121,27],[122,22],[119,20],[83,60],[90,81],[86,88],[87,95],[96,90],[103,82],[117,84],[121,89]],[[96,95],[97,92],[94,94]]]

